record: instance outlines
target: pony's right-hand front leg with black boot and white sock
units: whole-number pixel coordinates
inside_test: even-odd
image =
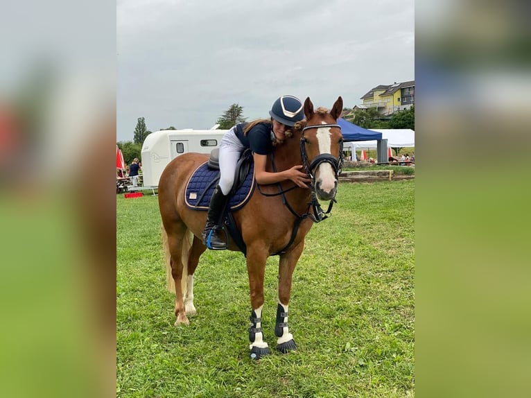
[[[288,327],[288,303],[290,302],[293,271],[303,249],[304,241],[299,243],[289,253],[281,254],[279,260],[279,304],[277,305],[275,335],[278,337],[277,349],[283,354],[297,349],[293,335],[290,334]]]

